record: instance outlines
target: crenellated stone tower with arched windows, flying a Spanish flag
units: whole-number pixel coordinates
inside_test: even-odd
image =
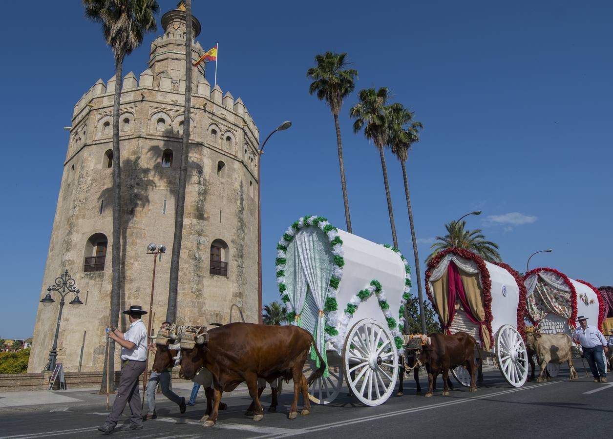
[[[121,309],[148,308],[153,257],[146,254],[147,245],[166,245],[167,253],[157,261],[154,328],[166,317],[168,299],[183,135],[185,9],[180,4],[161,22],[164,35],[151,43],[149,68],[138,78],[132,72],[123,78],[120,107]],[[196,18],[192,29],[197,37]],[[203,53],[193,43],[192,60]],[[223,94],[219,86],[211,90],[204,73],[204,62],[192,73],[177,323],[257,322],[259,132],[242,100]],[[112,279],[115,86],[114,77],[106,84],[98,80],[75,105],[41,288],[42,298],[67,269],[81,291],[84,304],[66,304],[58,337],[57,361],[68,372],[77,370],[82,345],[83,371],[102,370],[104,363]],[[59,297],[53,298],[53,304],[39,304],[28,372],[40,372],[47,364],[58,316]],[[125,323],[120,320],[120,326]]]

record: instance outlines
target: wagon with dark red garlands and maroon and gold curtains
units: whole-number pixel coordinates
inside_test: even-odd
[[[446,249],[428,263],[428,298],[443,332],[467,332],[478,343],[482,358],[497,359],[504,380],[524,385],[528,357],[524,342],[526,290],[519,273],[504,263],[490,263],[463,249]],[[470,386],[465,367],[452,370],[463,386]]]

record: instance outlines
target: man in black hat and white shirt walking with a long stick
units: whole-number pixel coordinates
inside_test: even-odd
[[[121,346],[121,377],[116,391],[113,407],[107,416],[104,425],[98,427],[102,433],[108,435],[113,432],[126,404],[130,405],[132,416],[129,424],[121,430],[140,430],[143,428],[142,402],[139,392],[139,377],[145,372],[147,360],[147,328],[141,317],[147,314],[139,305],[132,305],[123,312],[128,314],[130,327],[126,332],[110,328],[109,337]]]

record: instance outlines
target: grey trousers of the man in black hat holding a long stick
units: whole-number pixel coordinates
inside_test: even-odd
[[[105,424],[109,424],[112,427],[117,425],[123,409],[126,408],[126,404],[130,405],[131,424],[135,426],[142,426],[143,424],[143,405],[140,401],[139,392],[139,377],[145,372],[144,361],[128,361],[123,369],[121,369],[121,377],[119,379],[119,386],[116,391],[115,401],[113,401],[113,407],[111,412],[107,416]]]

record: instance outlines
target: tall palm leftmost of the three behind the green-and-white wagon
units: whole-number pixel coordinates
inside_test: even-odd
[[[343,106],[343,100],[354,88],[357,79],[357,70],[343,69],[348,65],[345,61],[346,53],[332,53],[330,51],[315,56],[316,67],[307,70],[307,78],[313,80],[308,88],[310,94],[316,93],[319,100],[326,100],[334,116],[334,126],[337,130],[338,163],[341,168],[341,186],[343,187],[343,201],[345,201],[345,219],[347,231],[351,233],[351,218],[349,217],[349,200],[347,185],[345,183],[345,163],[343,163],[343,146],[341,144],[341,127],[338,123],[338,113]]]

